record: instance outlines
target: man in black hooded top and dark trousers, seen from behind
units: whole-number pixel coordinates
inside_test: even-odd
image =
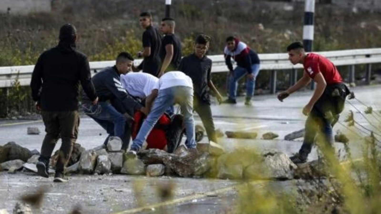
[[[36,164],[38,174],[49,177],[51,153],[61,135],[62,145],[56,164],[54,182],[65,182],[64,167],[77,139],[79,114],[79,83],[93,104],[98,102],[91,83],[90,66],[85,54],[75,50],[75,27],[65,24],[59,31],[58,46],[45,51],[38,58],[30,87],[36,109],[41,110],[46,136]]]

